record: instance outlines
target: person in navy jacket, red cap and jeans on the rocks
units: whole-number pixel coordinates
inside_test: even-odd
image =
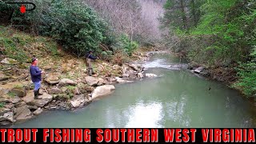
[[[33,57],[32,63],[30,66],[30,75],[31,75],[32,82],[34,83],[34,99],[41,99],[41,98],[38,98],[38,95],[42,95],[42,94],[39,94],[39,90],[40,90],[41,81],[42,81],[41,75],[44,74],[45,72],[42,70],[39,70],[37,65],[38,65],[38,58]]]

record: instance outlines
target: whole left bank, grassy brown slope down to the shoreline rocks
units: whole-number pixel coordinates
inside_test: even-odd
[[[1,27],[0,37],[0,125],[22,122],[44,110],[74,110],[94,98],[110,94],[115,83],[132,82],[154,76],[143,74],[139,65],[98,60],[92,77],[86,74],[84,58],[62,51],[51,38],[34,37]],[[30,80],[30,58],[38,58],[42,75],[42,99],[35,100]],[[133,54],[131,60],[146,60],[148,55]]]

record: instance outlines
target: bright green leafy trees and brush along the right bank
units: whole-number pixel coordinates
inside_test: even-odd
[[[167,0],[164,8],[167,47],[218,73],[228,70],[237,78],[232,86],[255,96],[255,0]]]

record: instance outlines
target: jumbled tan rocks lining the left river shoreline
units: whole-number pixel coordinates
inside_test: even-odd
[[[139,61],[146,61],[149,54],[134,54]],[[155,74],[145,74],[139,64],[126,63],[122,66],[102,62],[97,63],[97,72],[112,69],[105,75],[88,76],[86,70],[77,78],[68,78],[56,72],[52,66],[43,66],[47,71],[43,75],[40,92],[42,99],[34,99],[34,86],[30,81],[27,65],[14,59],[4,58],[0,70],[0,126],[24,122],[46,110],[74,110],[86,106],[95,99],[113,92],[114,84],[134,82],[142,78],[154,78]],[[68,73],[69,71],[66,71]],[[64,75],[64,76],[63,76]]]

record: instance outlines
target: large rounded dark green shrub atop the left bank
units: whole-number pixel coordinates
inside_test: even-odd
[[[101,51],[98,46],[106,38],[106,23],[81,1],[53,1],[43,18],[42,33],[78,57],[88,50]]]

